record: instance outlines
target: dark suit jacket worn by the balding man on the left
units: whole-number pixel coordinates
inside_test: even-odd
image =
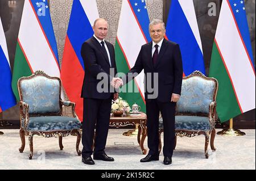
[[[117,73],[117,66],[115,65],[114,46],[105,41],[109,49],[112,67],[114,68],[114,75]],[[108,56],[102,51],[101,44],[95,37],[91,37],[82,44],[81,56],[84,60],[85,75],[82,85],[82,98],[92,99],[108,99],[113,96],[111,92],[98,92],[97,84],[101,79],[97,79],[99,73],[106,73],[108,75],[108,87],[110,89],[110,80],[114,75],[110,75],[110,64]]]

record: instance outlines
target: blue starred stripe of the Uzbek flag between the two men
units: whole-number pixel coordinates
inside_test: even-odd
[[[147,42],[151,41],[150,33],[148,32],[148,25],[150,20],[148,18],[147,6],[144,0],[128,0],[135,15],[137,16],[138,23],[141,25],[142,31],[146,36]]]

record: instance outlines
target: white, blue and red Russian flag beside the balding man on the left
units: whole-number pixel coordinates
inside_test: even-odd
[[[81,90],[84,79],[84,61],[81,57],[81,46],[84,41],[93,36],[92,26],[97,18],[99,18],[99,15],[96,1],[73,1],[60,78],[69,100],[76,103],[75,111],[81,121],[83,110]]]

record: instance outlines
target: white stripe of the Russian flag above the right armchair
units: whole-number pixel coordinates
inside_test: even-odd
[[[199,45],[201,52],[203,54],[203,47],[201,43],[201,37],[199,33],[199,28],[196,20],[196,12],[193,0],[179,0],[180,6],[188,20],[189,26],[196,38],[197,44]]]

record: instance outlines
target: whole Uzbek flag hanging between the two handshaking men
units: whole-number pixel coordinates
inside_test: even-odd
[[[115,61],[118,72],[127,73],[133,68],[141,46],[151,41],[148,32],[149,23],[145,1],[123,0],[115,42]],[[141,106],[141,111],[146,112],[143,78],[144,71],[133,81],[122,86],[120,96],[127,100],[129,105],[137,103]],[[129,92],[127,88],[131,86],[134,87],[133,92]]]

